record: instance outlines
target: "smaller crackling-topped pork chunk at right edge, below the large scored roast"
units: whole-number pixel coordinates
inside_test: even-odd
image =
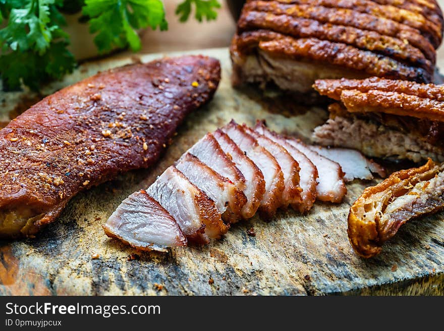
[[[444,161],[443,87],[372,77],[318,80],[314,88],[339,101],[315,128],[315,142],[371,157]]]

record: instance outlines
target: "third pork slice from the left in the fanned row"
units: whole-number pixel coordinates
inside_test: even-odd
[[[232,214],[240,215],[247,198],[228,178],[221,176],[190,153],[181,158],[176,168],[214,201],[224,220],[230,220]]]

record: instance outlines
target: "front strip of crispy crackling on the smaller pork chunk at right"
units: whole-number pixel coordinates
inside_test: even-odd
[[[444,103],[398,92],[346,90],[341,101],[349,112],[383,112],[444,121]]]

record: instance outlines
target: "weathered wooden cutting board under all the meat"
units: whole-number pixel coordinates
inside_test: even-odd
[[[260,118],[272,129],[309,137],[327,117],[320,108],[268,102],[251,88],[234,90],[226,48],[193,53],[217,57],[222,63],[223,79],[214,100],[187,118],[155,167],[78,194],[35,239],[0,241],[1,294],[444,294],[444,213],[404,225],[375,258],[362,259],[351,248],[346,231],[349,208],[364,187],[377,180],[349,184],[343,204],[316,203],[306,216],[288,210],[270,223],[258,217],[241,222],[208,246],[141,253],[106,237],[101,225],[121,201],[146,188],[207,131],[231,118],[250,124]],[[139,58],[145,62],[160,56]],[[139,58],[84,64],[43,92]],[[33,97],[29,92],[3,93],[4,120],[11,109],[23,107]],[[283,115],[289,107],[295,116]],[[256,236],[248,235],[251,228]],[[99,258],[94,259],[94,254]]]

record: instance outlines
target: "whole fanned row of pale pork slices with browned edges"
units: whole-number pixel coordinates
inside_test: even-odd
[[[106,222],[105,233],[132,246],[159,251],[182,246],[183,241],[177,239],[180,235],[188,243],[209,243],[223,236],[230,224],[256,212],[269,221],[279,208],[291,206],[308,212],[316,198],[340,203],[347,193],[341,163],[347,167],[350,180],[363,173],[365,178],[372,178],[370,171],[381,171],[359,152],[336,151],[338,163],[316,149],[321,151],[274,133],[262,122],[249,127],[232,120],[190,147],[175,166],[146,189],[149,198],[161,206],[161,213],[151,206],[144,210],[141,204],[129,208],[129,202],[141,195],[135,192]],[[350,155],[359,161],[354,167],[350,167]],[[157,228],[156,218],[161,224]],[[177,227],[171,225],[171,219],[176,220]],[[143,229],[144,222],[147,229]],[[165,232],[155,236],[155,230],[161,228]],[[109,233],[109,229],[114,232]],[[147,242],[141,244],[140,238]]]

